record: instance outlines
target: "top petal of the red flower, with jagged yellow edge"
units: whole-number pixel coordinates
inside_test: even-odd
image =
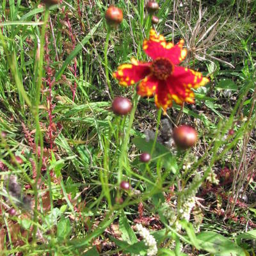
[[[187,55],[187,50],[183,49],[184,40],[176,45],[171,42],[167,43],[163,35],[157,35],[154,29],[150,30],[148,40],[143,42],[143,50],[153,60],[156,58],[168,58],[174,65],[178,65]]]

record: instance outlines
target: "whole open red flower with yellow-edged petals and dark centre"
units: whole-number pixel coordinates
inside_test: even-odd
[[[152,61],[132,59],[131,63],[120,65],[113,76],[122,86],[140,82],[137,93],[143,97],[155,95],[157,108],[164,111],[172,106],[173,100],[179,105],[194,103],[195,95],[191,89],[204,86],[209,79],[200,72],[177,66],[187,55],[183,45],[184,40],[174,45],[151,29],[149,39],[143,42],[143,50]]]

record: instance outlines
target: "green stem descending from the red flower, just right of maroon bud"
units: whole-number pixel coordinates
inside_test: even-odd
[[[120,159],[119,159],[119,167],[118,167],[118,173],[117,173],[117,182],[118,182],[118,184],[120,184],[120,182],[122,181],[122,170],[123,170],[123,166],[124,166],[124,159],[127,156],[127,145],[129,143],[131,127],[132,127],[132,124],[133,124],[134,115],[135,115],[135,112],[136,112],[136,108],[137,108],[139,99],[140,98],[137,95],[136,90],[135,90],[135,95],[134,95],[134,100],[133,100],[133,107],[132,107],[132,111],[131,111],[131,115],[130,115],[130,119],[129,119],[129,124],[128,124],[127,130],[125,132],[124,141],[122,143],[121,154],[120,154]]]

